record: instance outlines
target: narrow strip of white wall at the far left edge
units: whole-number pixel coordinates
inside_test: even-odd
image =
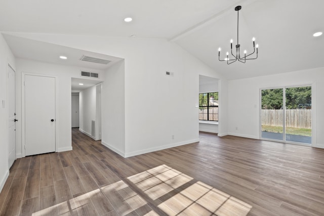
[[[14,69],[16,68],[15,57],[3,35],[0,34],[0,191],[9,175],[8,63]],[[2,105],[2,101],[4,101],[5,107]]]

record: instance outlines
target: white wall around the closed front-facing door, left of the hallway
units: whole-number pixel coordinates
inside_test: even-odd
[[[67,151],[71,150],[71,77],[82,78],[80,77],[80,69],[95,71],[100,74],[100,77],[103,77],[104,74],[102,71],[93,70],[89,68],[78,68],[66,65],[50,64],[46,62],[38,62],[27,59],[16,60],[17,65],[17,74],[16,74],[16,111],[17,118],[21,119],[22,113],[22,101],[21,101],[21,91],[22,91],[22,72],[29,73],[38,73],[38,74],[48,74],[57,76],[56,87],[57,87],[57,116],[56,123],[58,124],[57,133],[57,150],[58,151]],[[21,122],[16,123],[16,154],[17,157],[23,156],[22,150],[22,131],[21,131]]]

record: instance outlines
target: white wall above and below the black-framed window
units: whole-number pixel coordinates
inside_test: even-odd
[[[199,76],[199,93],[218,92],[218,79]],[[199,131],[218,133],[218,122],[199,121]]]

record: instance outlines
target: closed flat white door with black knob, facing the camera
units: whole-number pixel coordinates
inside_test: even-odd
[[[55,77],[25,75],[25,155],[55,152]]]

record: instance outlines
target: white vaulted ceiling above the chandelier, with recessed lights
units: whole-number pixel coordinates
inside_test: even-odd
[[[227,65],[218,61],[217,50],[221,47],[225,58],[229,40],[236,44],[237,5],[242,6],[239,44],[251,52],[255,36],[259,58]],[[0,31],[162,37],[234,79],[323,67],[324,36],[312,36],[324,31],[323,8],[323,0],[4,0]],[[124,22],[129,16],[133,21]],[[6,40],[21,58],[51,61],[51,55],[57,56],[51,53],[55,45],[33,50],[26,39],[7,35]],[[38,55],[30,57],[33,52]]]

